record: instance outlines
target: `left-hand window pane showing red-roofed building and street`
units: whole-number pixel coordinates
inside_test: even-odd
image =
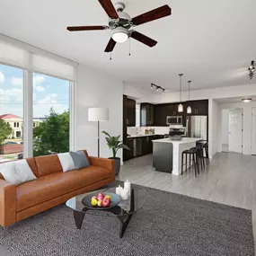
[[[0,163],[11,161],[22,154],[23,70],[0,65]],[[18,122],[19,123],[19,122]],[[13,129],[15,128],[15,130]]]

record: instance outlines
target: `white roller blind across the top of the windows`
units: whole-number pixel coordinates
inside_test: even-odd
[[[0,35],[0,63],[75,81],[77,64],[18,40]]]

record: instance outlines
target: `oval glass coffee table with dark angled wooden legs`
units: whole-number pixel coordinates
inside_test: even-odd
[[[95,214],[97,216],[117,217],[120,221],[119,237],[123,237],[131,217],[134,213],[141,209],[145,203],[146,190],[137,185],[131,185],[131,192],[128,200],[121,200],[117,206],[109,209],[92,209],[91,207],[85,207],[82,203],[85,196],[92,193],[94,194],[95,192],[102,192],[105,195],[108,194],[108,192],[115,193],[116,187],[119,185],[124,187],[123,182],[113,182],[105,187],[102,187],[100,190],[93,190],[66,201],[66,206],[73,209],[75,225],[78,229],[81,229],[86,213]]]

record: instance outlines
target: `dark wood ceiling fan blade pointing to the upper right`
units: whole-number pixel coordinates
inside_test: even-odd
[[[138,15],[137,17],[133,18],[131,21],[133,22],[134,25],[140,25],[146,22],[153,22],[154,20],[161,19],[171,14],[172,14],[172,9],[167,4],[165,4],[148,13]]]

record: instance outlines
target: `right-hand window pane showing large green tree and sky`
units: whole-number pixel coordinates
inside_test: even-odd
[[[33,155],[69,151],[70,83],[33,74]]]

